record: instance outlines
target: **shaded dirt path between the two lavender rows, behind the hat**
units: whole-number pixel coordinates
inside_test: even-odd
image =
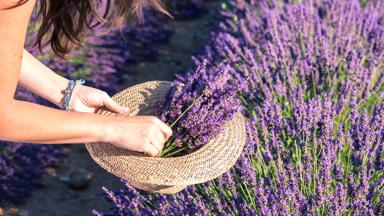
[[[218,5],[210,3],[209,8],[208,13],[198,19],[171,21],[175,34],[167,44],[159,47],[158,61],[132,65],[130,69],[135,73],[124,75],[125,82],[119,88],[123,90],[150,80],[172,80],[175,73],[185,72],[192,64],[191,55],[202,48],[216,23]],[[111,203],[105,200],[101,187],[118,189],[121,187],[119,179],[94,163],[84,145],[68,146],[66,150],[68,156],[63,162],[56,168],[47,169],[47,174],[41,179],[46,187],[34,190],[24,204],[7,208],[3,210],[6,211],[3,214],[78,216],[90,215],[92,209],[107,211],[111,207]],[[63,181],[74,171],[93,176],[86,189],[73,190]]]

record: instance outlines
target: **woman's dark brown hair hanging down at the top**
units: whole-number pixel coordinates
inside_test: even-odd
[[[12,8],[26,2],[19,0]],[[128,17],[142,20],[146,5],[171,16],[161,0],[40,0],[35,15],[41,24],[35,45],[41,50],[50,44],[63,57],[74,46],[83,45],[84,33],[95,27],[119,27]]]

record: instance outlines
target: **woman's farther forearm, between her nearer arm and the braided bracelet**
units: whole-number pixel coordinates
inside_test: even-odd
[[[67,87],[68,79],[56,74],[24,50],[18,84],[62,107],[62,91]]]

